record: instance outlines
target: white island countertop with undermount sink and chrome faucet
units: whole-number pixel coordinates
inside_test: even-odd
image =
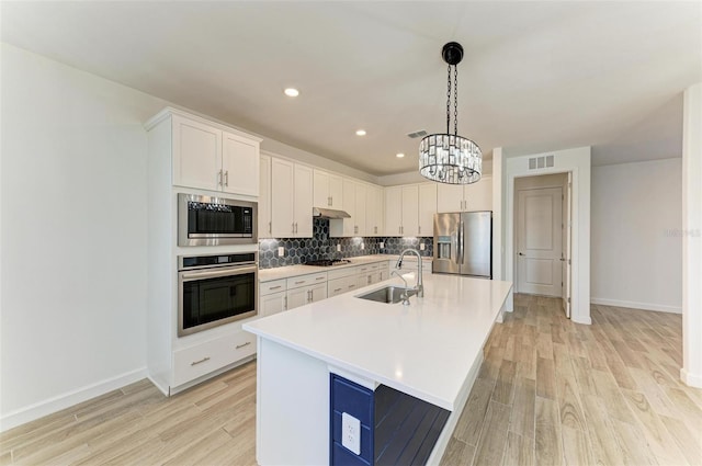
[[[407,273],[415,284],[414,273]],[[398,277],[246,323],[244,329],[454,410],[511,283],[427,274],[410,305],[356,298]]]

